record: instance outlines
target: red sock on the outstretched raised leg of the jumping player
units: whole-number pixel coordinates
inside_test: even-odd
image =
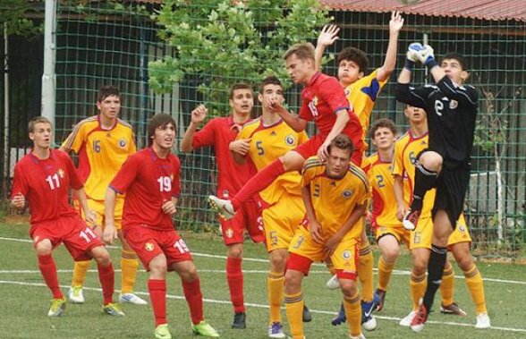
[[[274,160],[270,165],[259,171],[258,174],[251,177],[248,182],[245,182],[241,191],[238,191],[232,199],[233,209],[237,210],[240,208],[243,202],[252,198],[254,194],[265,190],[269,184],[284,173],[285,170],[281,160]]]

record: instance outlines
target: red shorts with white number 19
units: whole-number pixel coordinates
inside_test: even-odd
[[[159,254],[165,255],[168,270],[175,262],[193,260],[190,249],[175,230],[159,231],[143,225],[126,225],[123,236],[146,270],[149,270],[151,259]]]

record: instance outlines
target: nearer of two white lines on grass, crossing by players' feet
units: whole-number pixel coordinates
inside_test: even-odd
[[[16,285],[22,285],[22,286],[47,287],[46,284],[25,283],[25,282],[17,282],[17,281],[12,281],[12,280],[0,280],[0,284],[16,284]],[[70,286],[69,285],[68,286],[62,285],[60,287],[61,288],[69,288]],[[84,286],[83,289],[84,290],[89,290],[89,291],[102,292],[102,289],[94,288],[94,287],[86,287],[86,286]],[[120,291],[115,290],[115,292],[120,292]],[[137,291],[134,291],[134,293],[135,294],[139,294],[139,295],[143,295],[143,296],[147,296],[147,297],[149,295],[148,292],[137,292]],[[182,296],[182,295],[166,294],[166,298],[167,299],[180,300],[180,301],[184,300],[184,296]],[[206,302],[209,302],[209,303],[215,303],[215,304],[231,305],[231,301],[216,301],[214,299],[206,299],[206,298],[203,298],[203,301],[206,301]],[[245,306],[250,306],[250,307],[259,308],[259,309],[268,309],[268,305],[261,305],[261,304],[250,303],[250,302],[245,302]],[[284,309],[284,308],[282,308],[282,309]],[[331,311],[328,311],[328,310],[318,310],[318,309],[310,309],[310,312],[311,313],[318,313],[318,314],[328,314],[328,315],[332,315],[332,316],[337,314],[334,311],[331,312]],[[393,321],[400,321],[402,319],[402,318],[385,317],[385,316],[378,316],[378,315],[375,315],[375,318],[385,319],[385,320],[393,320]],[[428,320],[427,323],[428,324],[437,324],[437,325],[475,327],[474,325],[471,325],[471,324],[455,323],[453,321]],[[489,329],[498,330],[498,331],[507,331],[507,332],[522,332],[522,333],[526,333],[526,328],[491,326],[491,327],[489,327]]]

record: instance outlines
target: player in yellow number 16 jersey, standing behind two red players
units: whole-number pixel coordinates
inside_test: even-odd
[[[99,113],[78,123],[64,140],[61,149],[66,152],[72,151],[79,156],[79,174],[88,196],[88,206],[98,215],[94,229],[100,234],[102,233],[100,228],[104,225],[104,198],[107,186],[124,161],[135,153],[136,148],[131,125],[118,118],[121,111],[119,90],[111,85],[101,87],[98,90],[97,108]],[[119,299],[121,302],[146,305],[146,301],[133,293],[139,262],[135,252],[123,240],[120,232],[123,205],[124,197],[119,196],[115,208],[115,226],[119,230],[119,238],[123,244],[122,285]],[[68,293],[70,301],[84,302],[82,285],[88,268],[89,261],[75,262],[72,288]]]

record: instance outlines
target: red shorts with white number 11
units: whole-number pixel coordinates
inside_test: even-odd
[[[52,221],[31,225],[30,237],[35,247],[45,239],[49,239],[54,249],[64,242],[75,261],[91,259],[89,251],[94,247],[104,246],[80,216],[61,216]]]

